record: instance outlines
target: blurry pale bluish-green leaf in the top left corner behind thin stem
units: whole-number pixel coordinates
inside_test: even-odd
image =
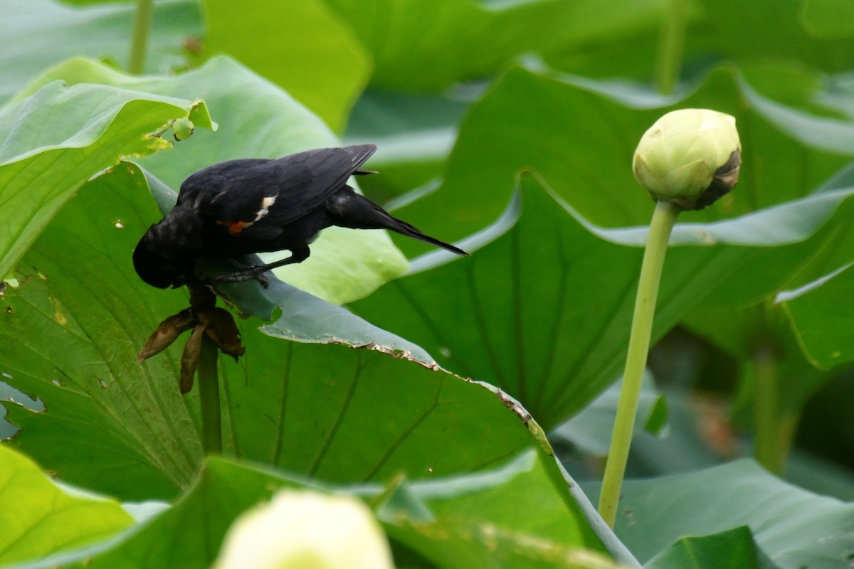
[[[32,80],[34,73],[67,59],[88,55],[127,66],[131,52],[134,3],[73,7],[56,0],[6,0],[0,37],[0,103]],[[155,4],[145,70],[184,67],[184,41],[202,32],[195,0],[161,0]],[[72,53],[69,53],[72,52]]]

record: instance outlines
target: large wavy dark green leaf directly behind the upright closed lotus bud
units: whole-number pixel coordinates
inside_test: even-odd
[[[744,146],[738,187],[702,212],[682,214],[682,221],[733,218],[807,195],[851,160],[845,154],[854,154],[850,121],[764,98],[732,67],[718,68],[678,99],[517,67],[471,107],[442,188],[398,213],[459,238],[497,217],[518,171],[529,169],[594,224],[648,224],[652,200],[632,176],[632,155],[655,119],[681,107],[733,114]]]

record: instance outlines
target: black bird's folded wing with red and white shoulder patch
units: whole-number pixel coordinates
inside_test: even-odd
[[[181,184],[178,203],[231,235],[266,239],[319,207],[376,151],[373,144],[319,148],[278,160],[231,160]]]

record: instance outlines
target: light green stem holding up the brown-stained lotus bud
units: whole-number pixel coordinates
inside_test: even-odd
[[[617,419],[614,421],[611,450],[608,452],[608,462],[605,463],[605,476],[602,479],[599,498],[599,514],[611,527],[617,520],[617,502],[620,498],[620,487],[623,485],[623,474],[626,472],[626,462],[629,460],[629,445],[640,397],[640,381],[646,369],[646,355],[652,336],[652,316],[655,315],[664,254],[667,253],[667,242],[679,211],[670,202],[658,201],[655,212],[652,213],[649,237],[643,263],[640,265],[640,282],[635,298],[635,315],[632,317],[626,368],[623,371],[623,387],[617,403]]]

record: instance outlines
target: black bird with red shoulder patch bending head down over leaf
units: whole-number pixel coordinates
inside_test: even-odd
[[[306,260],[308,245],[332,225],[391,229],[467,255],[392,217],[347,185],[353,174],[375,173],[360,166],[376,150],[374,144],[319,148],[278,160],[229,160],[202,168],[181,184],[173,210],[143,235],[133,266],[153,287],[179,287],[197,280],[196,261],[225,258],[240,269],[213,280],[246,281]],[[276,263],[243,266],[234,260],[284,249],[290,257]]]

